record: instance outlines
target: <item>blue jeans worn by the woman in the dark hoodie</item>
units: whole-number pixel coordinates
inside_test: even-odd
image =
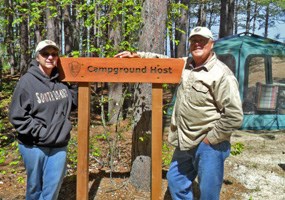
[[[67,147],[19,144],[27,173],[26,200],[56,200],[66,173]]]

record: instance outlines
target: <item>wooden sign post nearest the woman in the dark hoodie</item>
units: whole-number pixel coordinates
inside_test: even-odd
[[[89,125],[90,84],[79,83],[78,88],[78,162],[76,199],[88,199],[89,182]]]

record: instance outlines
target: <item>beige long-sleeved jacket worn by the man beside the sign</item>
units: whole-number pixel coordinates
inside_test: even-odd
[[[165,58],[138,52],[144,58]],[[187,58],[183,58],[186,60]],[[180,150],[197,146],[205,137],[211,144],[230,141],[242,124],[238,82],[232,71],[214,56],[202,67],[185,66],[177,90],[168,141]]]

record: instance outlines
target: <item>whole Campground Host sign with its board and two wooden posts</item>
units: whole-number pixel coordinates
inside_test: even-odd
[[[180,81],[182,59],[60,58],[62,81],[78,82],[78,163],[76,197],[88,200],[90,83],[152,83],[151,199],[161,199],[162,83]]]

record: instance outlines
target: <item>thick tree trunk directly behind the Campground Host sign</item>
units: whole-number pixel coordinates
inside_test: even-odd
[[[144,26],[140,35],[139,50],[163,54],[167,0],[145,0],[142,16]],[[150,157],[151,155],[151,91],[151,84],[136,84],[135,86],[132,161],[137,156]],[[150,166],[140,170],[141,176],[144,176],[145,170],[150,170]]]

